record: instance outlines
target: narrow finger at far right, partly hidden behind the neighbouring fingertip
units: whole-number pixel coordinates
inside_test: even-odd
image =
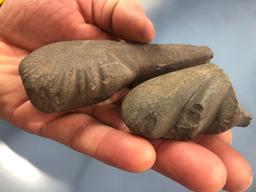
[[[252,182],[251,167],[237,151],[214,137],[203,136],[198,143],[218,155],[225,164],[228,174],[226,190],[246,191],[248,189]]]

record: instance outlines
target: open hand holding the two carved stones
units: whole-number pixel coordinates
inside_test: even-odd
[[[230,131],[191,142],[146,140],[130,134],[121,119],[119,104],[128,90],[100,105],[54,114],[36,110],[25,94],[19,62],[44,44],[153,37],[136,0],[6,0],[0,8],[0,117],[123,170],[152,168],[193,191],[246,191],[252,171],[230,146]]]

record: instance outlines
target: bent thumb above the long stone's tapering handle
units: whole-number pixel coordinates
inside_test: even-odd
[[[96,24],[121,39],[150,42],[154,37],[153,24],[137,0],[78,0],[78,2],[87,22]]]

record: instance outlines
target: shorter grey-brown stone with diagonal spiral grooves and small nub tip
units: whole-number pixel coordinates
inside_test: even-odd
[[[122,116],[134,133],[175,140],[247,126],[251,120],[228,77],[214,64],[164,74],[138,85],[125,97]]]

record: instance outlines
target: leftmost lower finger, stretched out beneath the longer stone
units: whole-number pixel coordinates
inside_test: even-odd
[[[149,142],[85,114],[56,119],[42,128],[41,135],[127,171],[145,171],[155,162],[155,151]]]

